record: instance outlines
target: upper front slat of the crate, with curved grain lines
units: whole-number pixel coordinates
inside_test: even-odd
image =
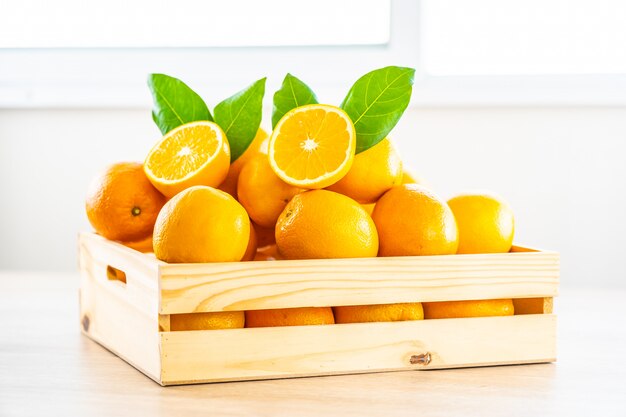
[[[518,248],[520,249],[520,248]],[[161,314],[557,295],[559,255],[161,264]]]

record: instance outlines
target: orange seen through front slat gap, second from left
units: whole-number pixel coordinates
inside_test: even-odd
[[[246,311],[246,327],[310,326],[334,323],[335,318],[330,307]]]

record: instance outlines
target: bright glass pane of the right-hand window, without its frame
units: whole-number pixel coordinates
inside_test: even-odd
[[[626,73],[623,0],[424,0],[432,75]]]

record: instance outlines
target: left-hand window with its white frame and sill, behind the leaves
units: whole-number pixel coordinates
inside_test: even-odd
[[[264,76],[271,98],[287,72],[337,102],[372,68],[417,62],[393,41],[391,0],[0,1],[5,107],[146,107],[151,72],[209,104]]]

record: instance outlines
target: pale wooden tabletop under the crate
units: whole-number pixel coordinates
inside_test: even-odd
[[[557,364],[162,388],[78,325],[78,276],[0,273],[0,416],[626,416],[626,290],[568,290]]]

